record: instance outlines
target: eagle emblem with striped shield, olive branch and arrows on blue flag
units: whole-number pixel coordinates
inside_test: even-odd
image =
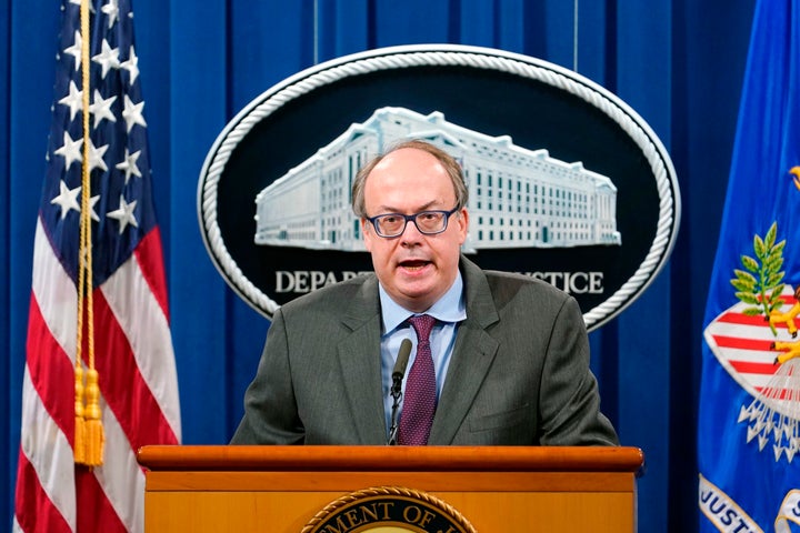
[[[742,255],[731,285],[739,302],[704,331],[722,366],[753,400],[742,405],[739,423],[747,442],[771,450],[774,461],[792,462],[800,452],[800,286],[783,283],[783,251],[778,224],[753,238],[753,255]]]

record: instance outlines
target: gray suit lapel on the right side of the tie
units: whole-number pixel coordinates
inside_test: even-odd
[[[451,444],[491,368],[498,341],[486,329],[499,320],[491,291],[480,269],[462,257],[467,320],[458,328],[456,346],[428,443]]]

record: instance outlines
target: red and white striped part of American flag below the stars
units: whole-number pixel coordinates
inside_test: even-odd
[[[136,451],[178,444],[180,408],[158,229],[94,291],[102,466],[74,464],[77,291],[37,224],[14,531],[143,531]],[[86,354],[86,351],[83,352]]]

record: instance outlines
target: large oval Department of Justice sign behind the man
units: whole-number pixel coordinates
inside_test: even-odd
[[[630,107],[537,58],[417,44],[298,72],[228,123],[198,185],[201,234],[228,284],[271,320],[294,298],[371,272],[352,181],[407,139],[462,167],[462,252],[573,295],[590,331],[641,295],[670,255],[678,180]]]

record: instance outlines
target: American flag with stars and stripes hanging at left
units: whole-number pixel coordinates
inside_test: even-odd
[[[142,531],[144,474],[136,452],[181,440],[132,7],[129,0],[91,3],[89,64],[81,54],[80,0],[62,3],[33,251],[14,531]],[[93,353],[106,436],[96,467],[76,464],[73,454],[83,165],[91,175]],[[83,329],[84,361],[88,334]]]

